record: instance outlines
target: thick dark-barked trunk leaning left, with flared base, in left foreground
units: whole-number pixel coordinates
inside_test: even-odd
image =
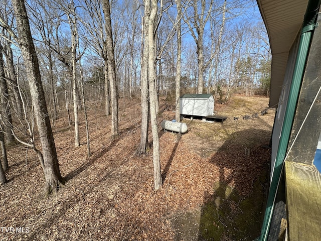
[[[43,151],[43,170],[46,179],[45,193],[57,191],[64,183],[50,126],[44,89],[41,82],[38,57],[31,36],[29,20],[23,0],[12,1],[19,34],[19,44],[26,66],[32,104],[35,110],[38,132]]]

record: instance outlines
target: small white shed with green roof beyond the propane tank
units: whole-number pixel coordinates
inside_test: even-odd
[[[214,114],[212,94],[184,94],[180,97],[180,114],[209,116]]]

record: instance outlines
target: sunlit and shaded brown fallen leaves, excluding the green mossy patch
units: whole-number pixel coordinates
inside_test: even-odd
[[[0,240],[174,240],[180,230],[173,226],[173,218],[199,209],[215,192],[214,183],[224,182],[246,197],[253,179],[266,171],[269,153],[260,145],[269,141],[271,127],[265,128],[269,130],[263,131],[264,137],[254,140],[250,155],[246,155],[243,144],[253,143],[259,120],[257,124],[253,121],[250,129],[230,128],[226,132],[229,137],[220,141],[211,141],[210,136],[203,139],[200,130],[221,132],[222,128],[234,127],[233,118],[227,119],[223,127],[196,121],[179,142],[175,134],[159,129],[164,182],[163,188],[155,192],[152,156],[134,155],[140,120],[130,116],[139,116],[139,100],[127,104],[119,123],[120,135],[114,141],[109,139],[110,121],[107,125],[106,116],[89,112],[92,156],[87,159],[85,143],[74,147],[73,129],[67,127],[67,118],[55,123],[60,169],[68,181],[48,199],[41,195],[44,177],[34,153],[28,152],[26,165],[25,149],[9,148],[9,183],[0,186],[0,223],[4,227],[29,227],[30,232],[0,232]],[[174,118],[174,113],[164,111],[163,116]],[[266,121],[268,115],[263,117]],[[158,121],[161,123],[162,116]],[[272,118],[269,122],[273,124]],[[84,131],[81,128],[82,141]],[[240,136],[245,141],[240,141]],[[238,208],[236,203],[233,205]],[[197,220],[193,225],[198,225]]]

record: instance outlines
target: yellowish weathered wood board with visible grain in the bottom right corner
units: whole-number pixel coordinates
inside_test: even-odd
[[[289,240],[321,240],[321,174],[286,161],[285,184]]]

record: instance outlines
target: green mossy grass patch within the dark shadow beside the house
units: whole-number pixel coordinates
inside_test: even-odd
[[[262,173],[246,198],[225,183],[215,183],[213,195],[202,206],[199,240],[253,240],[259,236],[265,182],[266,174]]]

